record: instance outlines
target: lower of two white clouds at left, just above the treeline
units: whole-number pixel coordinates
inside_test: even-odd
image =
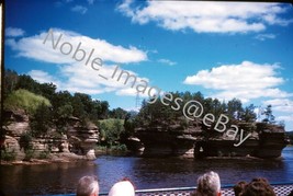
[[[58,90],[67,90],[72,93],[82,92],[87,94],[113,92],[116,95],[136,96],[136,85],[142,84],[142,80],[147,83],[149,82],[147,78],[142,78],[131,70],[123,69],[124,73],[121,74],[122,69],[120,67],[119,69],[116,68],[116,66],[103,66],[100,70],[93,70],[89,66],[79,64],[64,65],[59,67],[59,77],[63,81],[60,81],[60,78],[56,79],[54,76],[42,70],[32,70],[27,74],[41,83],[53,82],[57,85]],[[115,70],[117,71],[115,72]],[[127,81],[126,72],[136,77],[136,82],[133,88],[132,84],[134,80],[129,78]],[[147,91],[142,96],[146,97]]]

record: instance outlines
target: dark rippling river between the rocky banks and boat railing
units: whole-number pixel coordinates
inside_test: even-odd
[[[195,186],[198,176],[213,170],[222,184],[250,181],[256,176],[270,182],[293,183],[293,147],[282,152],[283,160],[178,158],[136,158],[101,155],[95,161],[53,163],[45,165],[1,165],[0,189],[5,195],[47,195],[75,193],[77,181],[83,175],[97,175],[102,192],[124,176],[136,188]]]

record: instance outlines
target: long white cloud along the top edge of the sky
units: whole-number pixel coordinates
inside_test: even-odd
[[[117,10],[135,23],[155,22],[166,30],[198,33],[260,32],[293,22],[281,18],[288,9],[279,3],[147,1],[138,8],[125,0]]]

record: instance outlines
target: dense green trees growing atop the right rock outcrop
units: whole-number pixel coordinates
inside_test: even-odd
[[[215,120],[222,115],[229,117],[230,122],[247,122],[252,123],[256,120],[256,114],[253,112],[255,106],[249,105],[243,107],[240,100],[233,99],[227,103],[221,102],[217,99],[204,97],[201,92],[190,93],[190,92],[169,92],[168,105],[161,102],[164,96],[157,99],[144,100],[142,103],[142,108],[135,118],[136,127],[148,127],[148,126],[168,126],[172,124],[179,124],[182,128],[189,126],[189,120],[183,116],[182,109],[184,105],[190,101],[198,101],[203,106],[203,117],[206,114],[213,114]],[[179,100],[177,103],[174,100]],[[165,101],[166,102],[166,101]],[[177,109],[174,109],[177,108]],[[193,107],[193,109],[195,109]],[[190,111],[192,113],[192,111]],[[185,119],[185,120],[182,120]]]

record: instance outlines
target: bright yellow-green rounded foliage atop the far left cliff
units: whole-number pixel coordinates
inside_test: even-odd
[[[4,100],[4,109],[23,108],[30,115],[34,115],[41,104],[50,106],[49,101],[44,96],[36,95],[27,90],[20,89],[12,92]]]

